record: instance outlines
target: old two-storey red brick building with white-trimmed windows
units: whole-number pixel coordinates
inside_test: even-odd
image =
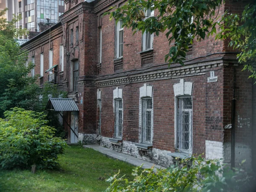
[[[78,128],[76,138],[66,125],[69,142],[97,143],[163,166],[176,156],[204,153],[236,166],[247,159],[251,168],[256,87],[241,72],[236,51],[210,36],[194,41],[185,66],[168,67],[164,34],[132,35],[103,16],[122,3],[65,0],[60,22],[22,45],[40,84],[57,83],[79,107],[63,112]],[[244,5],[226,1],[220,14],[241,12]]]

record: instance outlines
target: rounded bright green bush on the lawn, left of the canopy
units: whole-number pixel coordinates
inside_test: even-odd
[[[53,169],[66,142],[54,137],[44,113],[13,108],[0,119],[0,169]]]

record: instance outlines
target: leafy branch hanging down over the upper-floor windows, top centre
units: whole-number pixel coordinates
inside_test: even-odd
[[[186,59],[186,52],[193,38],[206,38],[206,33],[213,26],[210,34],[216,32],[216,21],[206,18],[214,16],[215,9],[222,0],[128,0],[120,8],[111,9],[111,19],[123,20],[124,26],[131,28],[134,33],[148,31],[155,33],[166,32],[170,51],[165,60],[169,64],[180,63]],[[154,17],[145,17],[146,9],[154,10]],[[214,23],[215,22],[215,23]],[[175,49],[172,49],[172,47]],[[172,50],[171,50],[172,49]]]

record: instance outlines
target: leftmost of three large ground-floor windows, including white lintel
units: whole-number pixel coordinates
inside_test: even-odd
[[[116,87],[113,90],[113,108],[115,116],[114,137],[122,138],[122,122],[123,122],[123,103],[122,103],[122,89]]]

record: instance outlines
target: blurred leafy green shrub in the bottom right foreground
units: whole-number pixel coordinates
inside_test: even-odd
[[[180,166],[169,169],[134,169],[134,180],[129,181],[119,173],[107,181],[110,186],[105,192],[241,192],[252,191],[246,172],[221,165],[220,160],[207,160],[199,155],[181,160]],[[192,165],[191,165],[192,163]],[[191,166],[190,166],[191,165]],[[251,188],[250,188],[251,187]]]

